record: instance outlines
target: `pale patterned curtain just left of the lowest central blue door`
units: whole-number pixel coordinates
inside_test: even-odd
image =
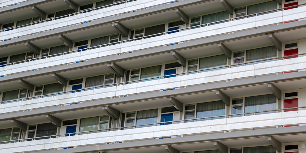
[[[136,125],[157,123],[158,109],[137,111]],[[154,125],[137,126],[136,128],[149,127]]]

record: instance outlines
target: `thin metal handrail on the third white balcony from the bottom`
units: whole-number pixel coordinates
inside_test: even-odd
[[[114,5],[114,4],[112,4],[112,5]],[[295,5],[295,6],[284,7],[284,8],[281,8],[281,9],[286,9],[286,8],[291,8],[291,7],[301,6],[301,5],[306,5],[306,3],[300,4],[300,5]],[[103,7],[103,6],[102,6],[102,7]],[[231,20],[238,19],[238,18],[248,17],[248,16],[257,15],[257,14],[261,14],[261,13],[267,13],[267,12],[276,11],[276,10],[279,10],[279,9],[274,9],[274,10],[270,10],[270,11],[265,11],[265,12],[260,12],[260,13],[245,15],[245,16],[242,16],[242,17],[230,18],[230,19],[221,20],[221,21],[210,22],[210,23],[206,23],[206,24],[200,24],[200,25],[196,25],[196,26],[193,26],[193,27],[181,28],[181,29],[177,29],[177,30],[173,30],[173,31],[168,31],[168,32],[161,32],[161,33],[157,33],[157,34],[153,34],[153,35],[147,35],[147,36],[138,37],[138,38],[133,38],[133,39],[121,40],[121,41],[117,41],[117,42],[113,42],[113,43],[107,43],[107,44],[103,44],[103,45],[98,45],[98,46],[93,46],[93,47],[87,47],[87,48],[83,48],[83,49],[79,49],[79,50],[72,50],[72,51],[68,51],[68,52],[64,52],[64,53],[58,53],[58,54],[53,54],[53,55],[48,55],[48,56],[44,56],[44,57],[32,58],[32,59],[28,59],[28,60],[19,61],[19,62],[13,62],[13,63],[9,63],[9,64],[3,64],[3,65],[0,65],[0,66],[7,66],[7,65],[20,64],[20,63],[23,63],[23,62],[30,62],[30,61],[34,61],[34,60],[45,59],[45,58],[50,58],[50,57],[60,56],[60,55],[65,55],[65,54],[69,54],[69,53],[77,52],[77,51],[82,51],[82,50],[83,50],[83,51],[86,51],[86,50],[90,50],[90,49],[92,49],[92,48],[97,48],[97,47],[101,48],[101,47],[105,47],[105,46],[115,45],[115,44],[118,44],[118,43],[130,42],[130,41],[133,41],[133,40],[136,40],[136,39],[138,40],[138,39],[145,39],[145,38],[152,37],[152,36],[164,35],[164,34],[166,34],[166,33],[175,32],[175,31],[181,31],[181,30],[186,31],[186,30],[190,30],[190,29],[193,29],[193,28],[196,28],[196,27],[199,27],[199,28],[200,28],[200,27],[202,27],[202,26],[208,26],[209,24],[214,24],[214,23],[219,23],[219,22],[224,22],[224,21],[231,21]],[[88,11],[88,10],[87,10],[87,11]],[[77,61],[77,62],[79,62],[79,61]]]

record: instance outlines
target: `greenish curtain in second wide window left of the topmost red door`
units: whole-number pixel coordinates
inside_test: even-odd
[[[202,16],[202,24],[207,24],[211,22],[216,22],[216,21],[221,21],[221,20],[226,20],[229,18],[229,13],[227,11],[224,12],[219,12],[219,13],[214,13],[214,14],[209,14],[209,15],[204,15]],[[209,25],[214,25],[214,24],[219,24],[227,21],[222,21],[222,22],[217,22]],[[204,25],[206,26],[206,25]]]

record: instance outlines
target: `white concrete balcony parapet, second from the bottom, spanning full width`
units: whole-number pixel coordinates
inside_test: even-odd
[[[93,101],[124,95],[141,94],[145,92],[157,92],[171,88],[184,88],[192,85],[201,85],[217,81],[227,81],[245,77],[276,74],[288,71],[302,70],[305,68],[306,56],[189,75],[181,75],[134,84],[118,85],[114,87],[100,88],[89,91],[81,91],[75,93],[65,92],[62,95],[30,99],[13,103],[3,103],[0,105],[0,113],[7,114],[24,110],[42,109],[53,106],[62,106],[70,103]]]

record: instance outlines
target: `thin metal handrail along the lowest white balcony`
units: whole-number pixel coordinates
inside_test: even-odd
[[[282,109],[274,109],[274,110],[263,110],[263,111],[256,111],[256,112],[248,112],[248,113],[239,113],[239,114],[226,114],[226,115],[219,115],[219,116],[211,116],[211,117],[204,117],[204,118],[192,118],[192,119],[185,119],[185,120],[178,120],[178,121],[166,121],[166,122],[158,122],[158,123],[150,123],[150,124],[143,124],[143,125],[133,125],[133,126],[123,126],[123,127],[116,127],[116,128],[108,128],[108,129],[99,129],[99,130],[90,130],[90,131],[83,131],[83,132],[73,132],[73,133],[65,133],[65,134],[57,134],[52,136],[40,136],[40,137],[34,137],[34,138],[27,138],[27,139],[18,139],[18,140],[8,140],[8,141],[1,141],[0,143],[6,143],[6,142],[16,142],[16,141],[22,141],[22,140],[35,140],[39,138],[52,138],[52,137],[60,137],[64,135],[71,135],[71,134],[80,134],[80,133],[93,133],[98,131],[114,131],[114,129],[125,129],[125,128],[132,128],[135,129],[139,126],[161,126],[160,124],[166,124],[166,123],[185,123],[185,121],[197,121],[203,119],[209,119],[209,118],[220,118],[220,117],[226,117],[230,118],[230,116],[236,116],[236,115],[246,115],[246,114],[253,114],[256,113],[263,113],[263,112],[271,112],[271,111],[279,111],[279,110],[290,110],[290,109],[299,109],[299,108],[306,108],[306,106],[300,106],[300,107],[291,107],[291,108],[282,108]],[[298,110],[297,110],[298,111]],[[305,122],[306,123],[306,122]]]

